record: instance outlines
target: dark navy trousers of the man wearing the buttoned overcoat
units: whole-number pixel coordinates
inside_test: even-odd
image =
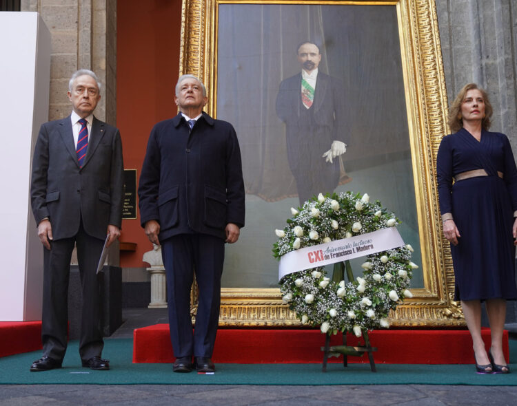
[[[167,274],[170,339],[174,356],[212,356],[219,324],[223,239],[205,234],[174,235],[161,244]],[[190,288],[199,288],[196,325],[192,334]]]

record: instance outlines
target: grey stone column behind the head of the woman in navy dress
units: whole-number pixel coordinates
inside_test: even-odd
[[[517,0],[436,0],[447,97],[478,83],[517,153]]]

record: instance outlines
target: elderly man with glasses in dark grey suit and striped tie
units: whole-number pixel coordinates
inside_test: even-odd
[[[39,130],[32,160],[31,204],[43,244],[43,356],[33,372],[61,367],[67,345],[68,279],[74,245],[83,303],[79,354],[83,367],[108,370],[101,358],[101,297],[97,264],[120,236],[123,160],[119,130],[97,120],[101,98],[94,72],[79,70],[68,85],[72,114]]]

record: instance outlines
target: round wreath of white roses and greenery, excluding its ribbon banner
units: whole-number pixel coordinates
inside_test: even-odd
[[[278,241],[273,254],[277,259],[298,248],[401,223],[381,202],[371,203],[367,194],[352,192],[320,193],[291,212],[287,226],[275,231]],[[412,251],[408,244],[367,255],[363,277],[354,281],[338,280],[344,279],[343,273],[337,280],[330,280],[323,267],[285,275],[279,282],[283,301],[303,323],[320,325],[323,333],[349,331],[361,336],[366,330],[387,328],[389,310],[396,308],[401,299],[412,297],[409,281],[413,269],[418,268],[410,261]]]

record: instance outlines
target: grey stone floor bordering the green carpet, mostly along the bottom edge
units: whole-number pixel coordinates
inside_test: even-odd
[[[126,309],[112,338],[134,328],[167,323],[166,309]],[[511,326],[514,327],[514,326]],[[515,338],[514,334],[511,334]],[[1,371],[1,361],[0,361]],[[5,371],[1,371],[5,373]],[[172,373],[172,371],[171,371]],[[474,374],[474,366],[472,367]],[[517,374],[516,374],[517,383]],[[8,405],[517,405],[517,386],[458,385],[0,385]]]

